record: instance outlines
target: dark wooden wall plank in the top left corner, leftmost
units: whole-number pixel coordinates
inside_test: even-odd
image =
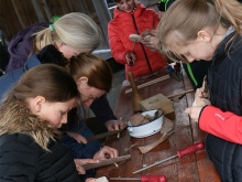
[[[8,42],[22,29],[10,0],[0,0],[0,29]]]

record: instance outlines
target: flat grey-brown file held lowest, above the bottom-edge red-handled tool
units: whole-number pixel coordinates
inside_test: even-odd
[[[124,161],[124,160],[128,160],[130,158],[131,158],[131,154],[127,154],[127,156],[122,156],[122,157],[118,157],[118,158],[110,158],[110,159],[101,160],[98,163],[84,164],[82,168],[85,170],[90,170],[90,169],[95,169],[95,168],[100,168],[100,167],[113,164],[116,162]]]

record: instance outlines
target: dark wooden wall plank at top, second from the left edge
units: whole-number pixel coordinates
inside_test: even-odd
[[[35,12],[32,0],[11,0],[21,28],[25,29],[36,22],[38,22],[37,14]]]

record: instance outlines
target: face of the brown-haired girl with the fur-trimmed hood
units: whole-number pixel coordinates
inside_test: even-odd
[[[61,128],[63,124],[67,122],[67,114],[76,106],[76,98],[72,98],[65,103],[44,101],[36,115],[47,120],[53,128]]]

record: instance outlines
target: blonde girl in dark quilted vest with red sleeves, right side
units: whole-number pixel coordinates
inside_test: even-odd
[[[222,181],[242,179],[242,4],[235,0],[176,0],[157,26],[170,60],[211,61],[211,106],[186,110],[207,131],[206,150]],[[198,88],[196,97],[205,95]],[[196,110],[196,111],[195,111]],[[196,116],[195,116],[196,115]]]

